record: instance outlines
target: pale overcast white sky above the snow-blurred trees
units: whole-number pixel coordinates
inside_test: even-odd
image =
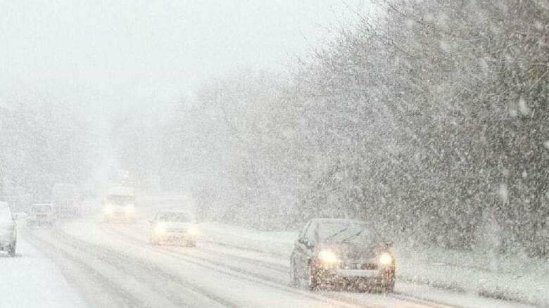
[[[0,0],[0,103],[155,104],[238,67],[283,70],[360,0]]]

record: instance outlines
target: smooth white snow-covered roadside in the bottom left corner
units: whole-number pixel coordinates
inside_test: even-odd
[[[87,307],[53,262],[18,238],[16,257],[0,252],[0,307]]]

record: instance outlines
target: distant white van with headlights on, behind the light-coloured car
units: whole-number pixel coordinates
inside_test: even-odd
[[[103,199],[105,222],[135,222],[135,190],[133,187],[114,186]]]

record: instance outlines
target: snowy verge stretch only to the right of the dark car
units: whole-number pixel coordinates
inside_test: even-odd
[[[398,248],[405,281],[549,307],[549,262],[441,248]]]

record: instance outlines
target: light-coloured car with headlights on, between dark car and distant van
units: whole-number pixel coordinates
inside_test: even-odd
[[[149,238],[152,245],[160,243],[186,244],[195,247],[200,230],[185,212],[157,212],[150,221]]]

